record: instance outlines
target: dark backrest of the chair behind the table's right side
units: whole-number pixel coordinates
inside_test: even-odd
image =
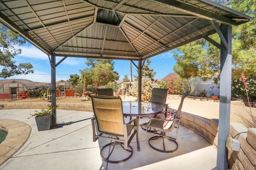
[[[166,104],[168,88],[153,88],[150,102],[157,102],[163,106]]]

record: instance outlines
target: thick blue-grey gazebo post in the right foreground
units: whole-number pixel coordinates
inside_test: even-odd
[[[220,113],[217,166],[214,170],[227,170],[228,157],[226,152],[226,142],[229,136],[230,126],[232,27],[230,25],[221,24],[220,31],[224,37],[220,43]],[[227,46],[224,45],[225,42],[223,43],[223,41],[226,41]]]

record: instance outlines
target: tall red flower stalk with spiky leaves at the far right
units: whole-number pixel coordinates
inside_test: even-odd
[[[255,113],[252,113],[252,107],[251,107],[250,100],[249,100],[250,98],[248,95],[248,85],[246,83],[246,78],[245,78],[244,74],[241,74],[241,78],[242,78],[242,82],[244,84],[244,91],[246,92],[247,100],[248,100],[249,107],[250,107],[250,111],[247,111],[247,110],[246,111],[250,115],[251,119],[247,119],[246,117],[242,116],[241,114],[239,114],[239,116],[241,117],[243,124],[246,127],[255,127],[256,128],[256,115],[255,115]]]

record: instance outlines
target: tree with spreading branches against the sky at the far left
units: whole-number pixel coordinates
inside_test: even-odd
[[[34,73],[32,64],[20,63],[16,65],[16,62],[12,61],[14,56],[21,53],[21,49],[17,49],[15,45],[24,43],[26,41],[18,34],[0,24],[0,77],[7,78],[19,74]]]

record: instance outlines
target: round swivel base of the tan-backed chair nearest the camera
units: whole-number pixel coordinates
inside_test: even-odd
[[[103,156],[103,150],[106,149],[107,147],[111,147],[112,145],[113,145],[113,147],[112,147],[111,151],[109,152],[108,156],[104,157],[104,156]],[[130,159],[130,158],[132,157],[133,150],[132,150],[132,147],[129,146],[130,150],[129,150],[129,149],[124,149],[124,150],[126,150],[127,152],[131,152],[128,157],[126,157],[126,158],[124,158],[124,159],[122,159],[122,160],[111,160],[111,159],[110,159],[110,156],[111,156],[111,154],[113,153],[114,148],[116,147],[116,145],[120,145],[120,146],[122,147],[122,149],[124,149],[124,146],[123,146],[124,143],[120,143],[120,142],[118,142],[118,141],[114,141],[114,143],[112,143],[112,142],[111,142],[111,143],[108,143],[107,145],[104,145],[104,146],[102,147],[102,149],[100,150],[100,156],[101,156],[101,158],[102,158],[104,161],[109,162],[109,163],[121,163],[121,162],[124,162],[124,161],[126,161],[126,160],[128,160],[128,159]],[[109,149],[108,149],[108,150],[109,150]]]

